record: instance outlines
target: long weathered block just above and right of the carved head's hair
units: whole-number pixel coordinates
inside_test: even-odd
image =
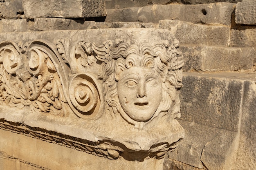
[[[183,21],[161,20],[159,28],[173,32],[181,44],[213,46],[229,44],[230,29],[227,26],[207,26]]]

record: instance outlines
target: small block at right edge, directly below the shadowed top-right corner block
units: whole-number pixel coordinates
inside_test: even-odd
[[[256,28],[231,29],[230,45],[234,47],[256,47]]]

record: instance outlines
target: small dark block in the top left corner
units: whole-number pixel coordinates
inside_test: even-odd
[[[24,18],[22,0],[1,0],[0,19]]]

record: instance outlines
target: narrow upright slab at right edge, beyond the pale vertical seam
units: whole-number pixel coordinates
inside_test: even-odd
[[[256,167],[256,84],[246,81],[244,87],[240,143],[236,167],[233,170],[253,170]]]

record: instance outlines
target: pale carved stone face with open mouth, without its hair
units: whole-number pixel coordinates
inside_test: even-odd
[[[153,117],[162,99],[161,76],[153,68],[132,67],[120,74],[117,83],[119,102],[135,121]]]

